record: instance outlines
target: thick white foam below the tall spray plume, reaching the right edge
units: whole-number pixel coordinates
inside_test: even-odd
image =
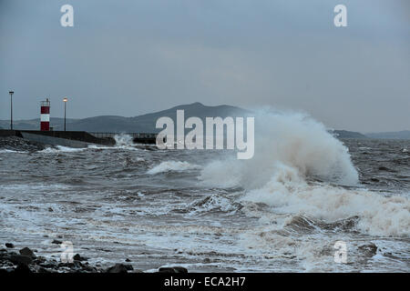
[[[275,213],[311,216],[333,222],[359,216],[358,230],[375,236],[410,235],[410,201],[364,190],[307,185],[297,171],[278,168],[272,180],[249,191],[242,201],[264,203]]]

